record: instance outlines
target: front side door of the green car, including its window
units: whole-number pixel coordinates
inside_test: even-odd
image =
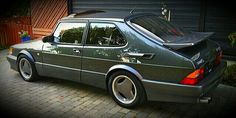
[[[80,81],[82,39],[86,22],[61,22],[43,46],[43,71],[46,76]]]

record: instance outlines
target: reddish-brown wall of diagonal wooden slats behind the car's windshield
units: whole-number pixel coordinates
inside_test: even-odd
[[[58,20],[67,13],[67,0],[31,0],[34,38],[50,34]]]

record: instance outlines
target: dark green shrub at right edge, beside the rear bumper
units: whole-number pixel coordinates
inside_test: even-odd
[[[222,83],[236,87],[236,64],[230,65],[226,68]]]

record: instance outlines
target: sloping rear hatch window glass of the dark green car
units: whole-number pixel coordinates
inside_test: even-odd
[[[156,15],[136,17],[131,19],[130,22],[140,31],[146,34],[148,32],[148,35],[158,36],[164,42],[176,42],[181,40],[184,36],[190,34],[190,32],[184,31],[180,27],[176,27]],[[154,37],[154,39],[157,38]]]

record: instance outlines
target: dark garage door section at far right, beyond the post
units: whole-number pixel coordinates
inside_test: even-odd
[[[215,32],[212,40],[224,49],[224,55],[235,56],[236,46],[232,47],[228,39],[230,33],[236,32],[236,11],[232,2],[208,1],[206,9],[205,31]]]

